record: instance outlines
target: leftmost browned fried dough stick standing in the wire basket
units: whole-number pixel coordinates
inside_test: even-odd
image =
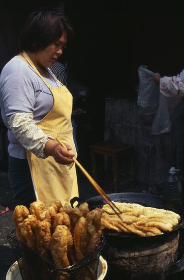
[[[23,221],[29,215],[29,210],[23,205],[17,205],[13,211],[13,222],[16,226],[16,235],[20,242],[26,244],[26,239],[21,233]]]

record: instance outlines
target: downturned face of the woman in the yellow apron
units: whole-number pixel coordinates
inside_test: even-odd
[[[52,43],[45,49],[34,53],[37,63],[43,67],[51,67],[63,53],[63,49],[67,43],[67,33],[64,32],[59,40]]]

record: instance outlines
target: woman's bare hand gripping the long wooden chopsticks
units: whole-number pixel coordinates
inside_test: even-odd
[[[56,162],[60,164],[70,164],[73,162],[74,153],[71,153],[72,148],[66,145],[67,150],[63,148],[60,144],[50,139],[45,144],[44,153],[49,156],[53,156]]]

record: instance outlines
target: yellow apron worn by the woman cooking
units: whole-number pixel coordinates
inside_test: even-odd
[[[51,88],[40,75],[28,55],[25,52],[22,54],[50,89],[54,98],[52,109],[37,123],[38,127],[40,127],[44,133],[54,138],[57,137],[64,144],[70,145],[72,147],[71,151],[77,154],[73,141],[73,128],[71,124],[71,93],[65,86]],[[74,162],[69,165],[63,165],[57,163],[52,156],[42,159],[28,150],[26,150],[26,154],[37,199],[41,200],[46,205],[54,200],[60,200],[62,205],[65,205],[66,203],[70,204],[72,198],[78,197],[77,176]]]

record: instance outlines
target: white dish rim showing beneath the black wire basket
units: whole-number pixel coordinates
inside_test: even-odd
[[[97,272],[97,280],[103,280],[105,278],[106,273],[107,273],[107,262],[102,256],[100,256],[98,272]],[[22,280],[17,262],[12,264],[12,266],[9,268],[6,275],[6,280]]]

